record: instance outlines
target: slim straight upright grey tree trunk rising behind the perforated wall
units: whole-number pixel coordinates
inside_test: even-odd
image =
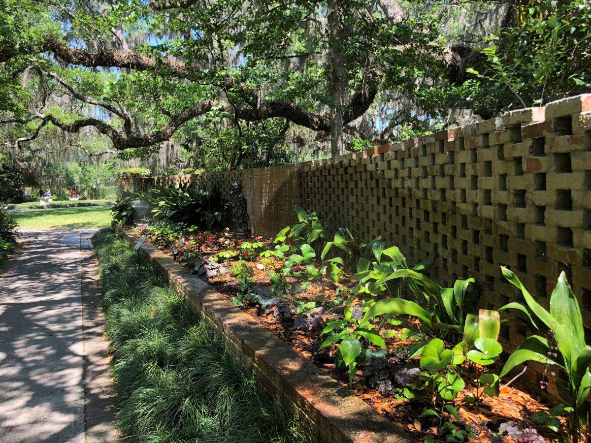
[[[345,105],[348,81],[342,51],[344,34],[342,0],[329,0],[328,8],[331,66],[330,89],[332,106],[334,107],[332,118],[330,119],[330,154],[335,157],[336,155],[345,154],[345,142],[343,141],[343,105]]]

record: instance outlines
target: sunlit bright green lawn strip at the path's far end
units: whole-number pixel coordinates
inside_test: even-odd
[[[41,209],[12,213],[22,229],[75,229],[105,227],[111,224],[111,207]]]

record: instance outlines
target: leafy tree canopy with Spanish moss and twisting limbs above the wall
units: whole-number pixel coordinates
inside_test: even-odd
[[[339,155],[589,90],[589,22],[588,0],[0,0],[0,121],[17,148],[92,128],[235,168],[305,128]]]

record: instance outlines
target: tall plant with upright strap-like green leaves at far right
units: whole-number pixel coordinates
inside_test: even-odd
[[[558,393],[567,403],[570,413],[571,440],[579,441],[580,429],[588,426],[590,407],[587,398],[591,393],[591,346],[585,342],[583,320],[579,302],[574,297],[564,272],[550,296],[550,312],[538,304],[521,284],[517,276],[501,267],[505,278],[517,287],[530,310],[551,331],[556,346],[540,335],[531,335],[511,354],[501,371],[501,377],[525,361],[538,361],[560,367],[565,379],[557,379]],[[534,324],[535,326],[535,324]]]

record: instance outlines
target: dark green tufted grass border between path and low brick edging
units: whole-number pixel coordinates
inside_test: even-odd
[[[189,302],[111,230],[93,236],[118,428],[139,442],[303,442]]]

